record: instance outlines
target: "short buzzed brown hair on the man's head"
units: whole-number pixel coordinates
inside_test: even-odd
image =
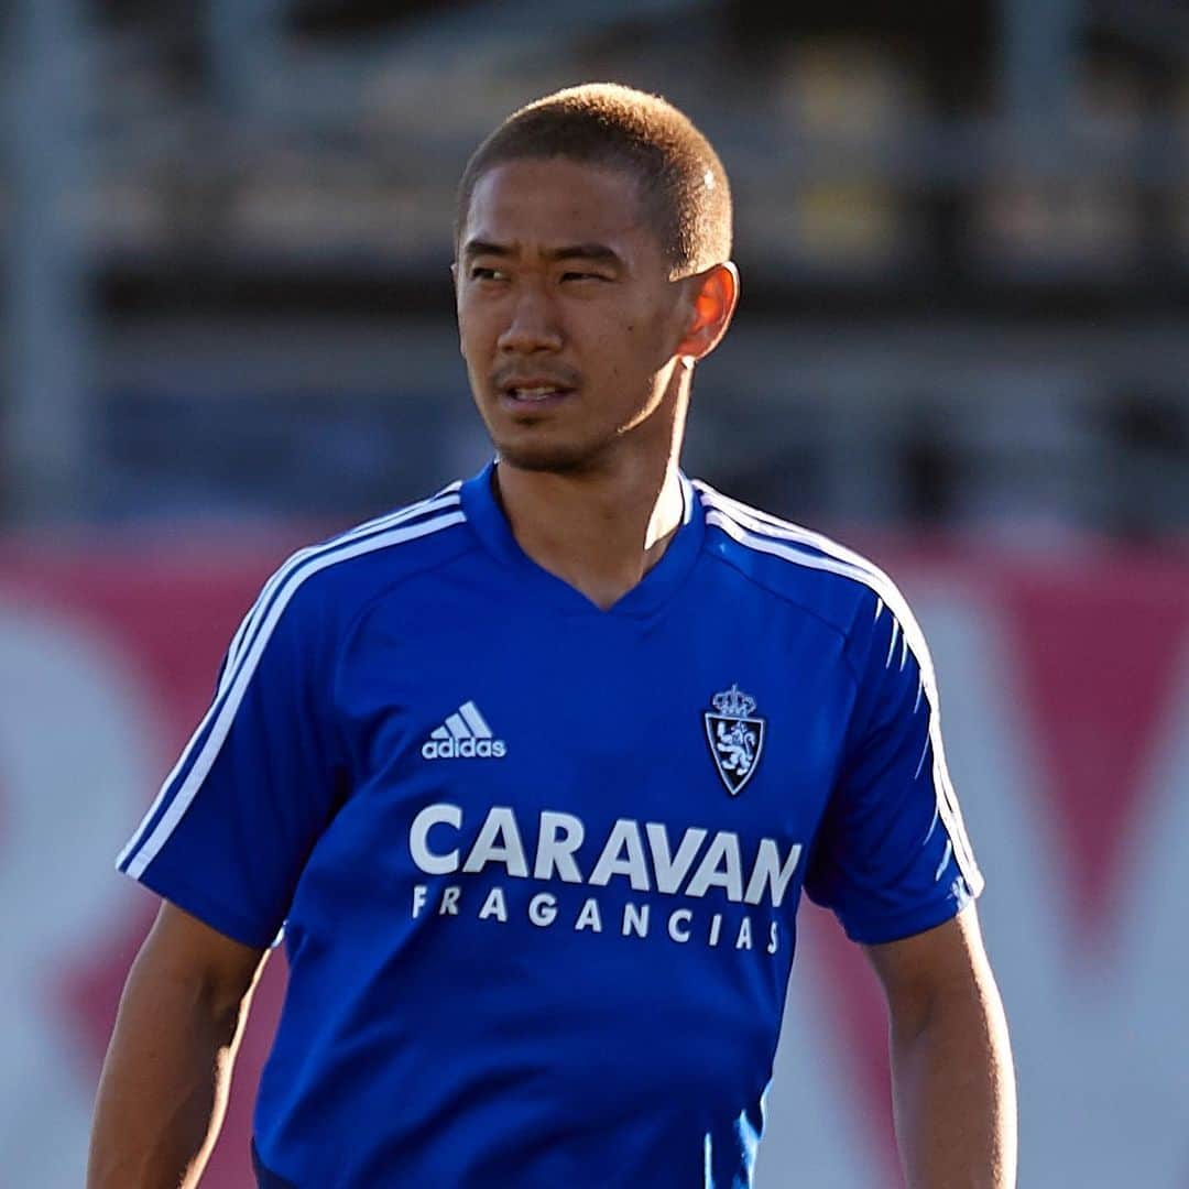
[[[489,169],[549,157],[633,175],[674,276],[730,259],[731,191],[718,153],[672,103],[617,83],[586,83],[537,99],[479,145],[458,187],[455,250],[471,195]]]

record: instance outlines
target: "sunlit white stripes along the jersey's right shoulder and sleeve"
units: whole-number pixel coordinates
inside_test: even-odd
[[[924,633],[905,597],[882,570],[873,566],[860,554],[835,545],[829,537],[781,521],[769,524],[768,522],[774,521],[774,517],[761,520],[760,516],[753,515],[750,509],[742,504],[735,504],[735,501],[728,501],[718,492],[705,487],[702,487],[700,491],[704,502],[712,509],[706,514],[707,524],[721,528],[740,545],[759,553],[767,553],[809,570],[820,570],[861,583],[876,594],[899,622],[904,638],[917,659],[925,697],[929,699],[929,736],[933,746],[933,789],[937,794],[937,809],[954,842],[954,855],[958,867],[970,885],[970,889],[977,894],[982,889],[983,881],[970,848],[970,841],[967,837],[962,811],[958,807],[957,795],[950,781],[949,767],[945,763],[933,662],[929,654],[929,646],[925,643]],[[730,510],[728,510],[729,507]],[[736,512],[735,508],[741,509],[741,511]],[[798,546],[810,546],[820,552],[810,553],[805,548],[798,548]],[[879,610],[876,611],[877,617]]]

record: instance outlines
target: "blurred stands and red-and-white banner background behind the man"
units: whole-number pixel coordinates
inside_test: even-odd
[[[0,1189],[81,1183],[152,912],[111,863],[253,591],[485,460],[454,184],[594,78],[732,178],[686,468],[875,556],[932,641],[1021,1185],[1189,1187],[1184,0],[7,0]],[[805,933],[760,1187],[895,1185],[882,1008]]]

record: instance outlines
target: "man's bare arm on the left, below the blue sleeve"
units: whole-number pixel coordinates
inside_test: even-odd
[[[197,1184],[264,954],[162,906],[103,1062],[87,1189]]]

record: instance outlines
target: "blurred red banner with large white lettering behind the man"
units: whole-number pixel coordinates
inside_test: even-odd
[[[120,987],[152,918],[117,851],[284,545],[0,552],[0,1185],[77,1187]],[[875,551],[877,555],[883,555]],[[891,566],[931,640],[1020,1068],[1023,1183],[1189,1185],[1189,565],[1115,553]],[[259,988],[205,1185],[251,1184],[283,993]],[[761,1189],[895,1184],[883,1012],[806,912]],[[1179,1053],[1179,1057],[1176,1056]],[[509,1183],[514,1182],[509,1172]]]

